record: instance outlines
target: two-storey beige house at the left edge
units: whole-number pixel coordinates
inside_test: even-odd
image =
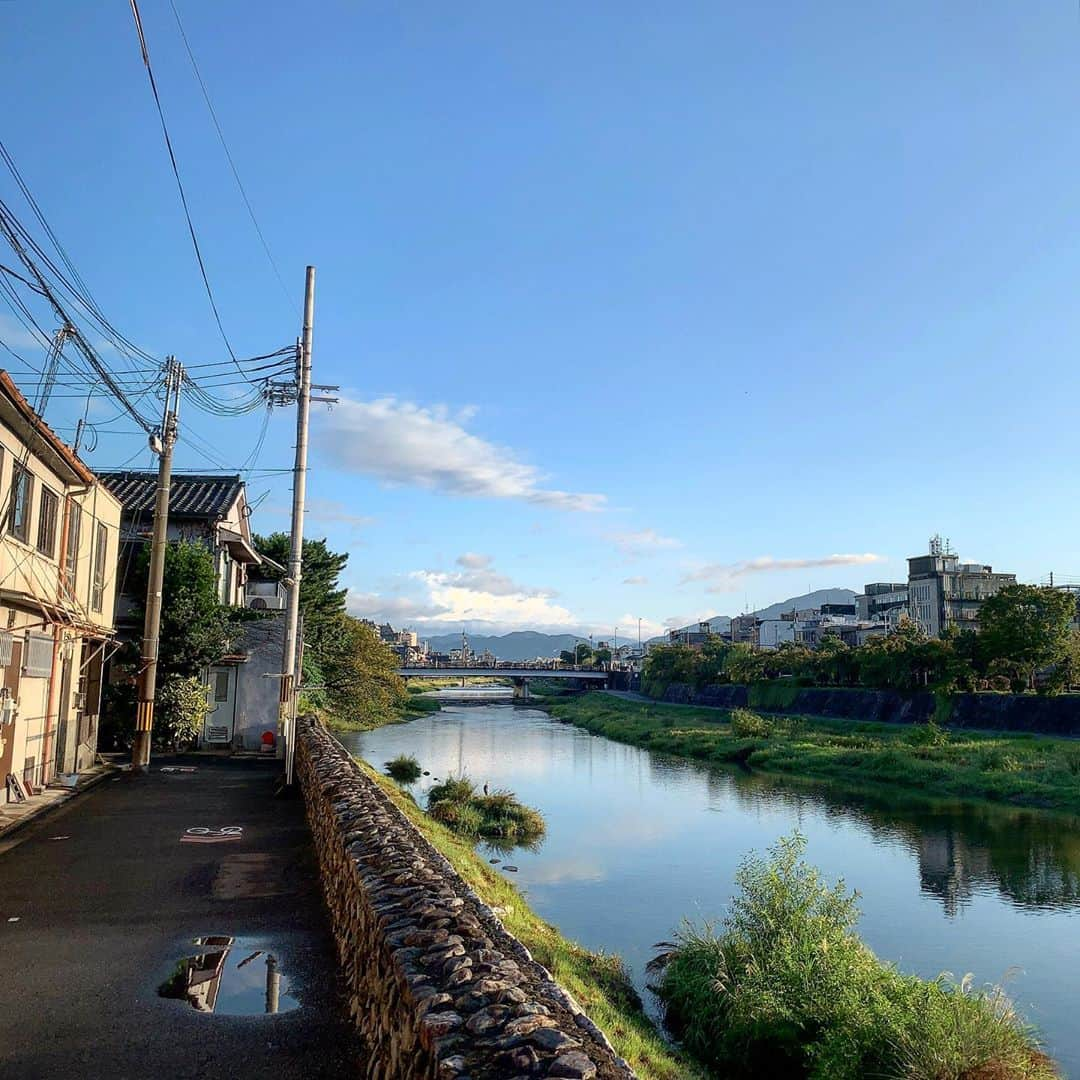
[[[93,762],[120,503],[0,372],[0,780]]]

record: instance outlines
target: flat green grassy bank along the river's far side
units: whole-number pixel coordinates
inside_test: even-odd
[[[605,693],[544,708],[596,734],[701,761],[1080,814],[1080,742],[1072,740],[773,715],[732,725],[723,710]]]

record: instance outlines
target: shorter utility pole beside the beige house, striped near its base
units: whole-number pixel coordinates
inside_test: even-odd
[[[165,361],[165,411],[161,435],[150,436],[158,451],[158,495],[153,504],[153,540],[150,544],[150,579],[146,585],[146,621],[143,626],[143,662],[138,674],[138,708],[135,713],[135,742],[132,768],[145,772],[150,766],[150,732],[153,730],[153,697],[158,686],[158,638],[161,632],[161,590],[165,577],[165,548],[168,544],[168,488],[173,478],[173,446],[180,411],[184,368],[174,356]]]

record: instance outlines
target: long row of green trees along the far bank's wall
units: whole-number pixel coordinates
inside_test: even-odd
[[[906,621],[860,646],[833,635],[815,649],[792,642],[755,649],[711,638],[700,650],[653,649],[642,685],[653,697],[674,683],[700,689],[775,678],[793,678],[800,686],[1059,693],[1080,684],[1080,635],[1071,629],[1076,613],[1070,593],[1012,585],[983,604],[978,633],[951,627],[942,637],[928,637]]]

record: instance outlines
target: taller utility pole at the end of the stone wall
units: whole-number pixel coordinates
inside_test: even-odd
[[[282,653],[280,713],[285,738],[285,783],[293,783],[296,764],[296,639],[300,620],[303,573],[303,500],[308,486],[308,415],[311,411],[311,323],[315,313],[315,268],[308,267],[303,289],[303,337],[296,373],[296,461],[293,467],[293,531],[288,552],[288,608]]]

